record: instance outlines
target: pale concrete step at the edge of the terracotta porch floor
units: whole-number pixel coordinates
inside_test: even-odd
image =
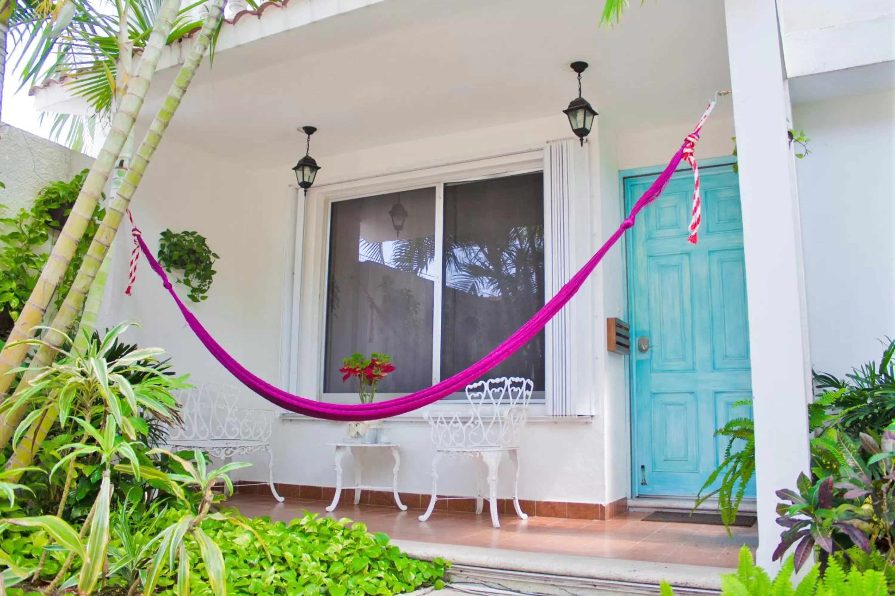
[[[393,541],[414,558],[451,562],[451,588],[480,596],[644,596],[666,580],[676,596],[720,594],[720,575],[733,569],[576,557],[434,542]]]

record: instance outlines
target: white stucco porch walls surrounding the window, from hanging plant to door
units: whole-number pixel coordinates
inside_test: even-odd
[[[696,114],[698,115],[698,114]],[[722,114],[723,115],[723,114]],[[618,167],[657,165],[674,152],[686,136],[692,122],[679,130],[639,132],[640,145],[623,147],[617,138],[629,133],[609,131],[603,141],[591,137],[592,238],[584,239],[595,250],[615,229],[621,219],[618,195]],[[732,136],[729,119],[720,118],[714,129],[707,129],[698,149],[700,157],[728,155]],[[670,128],[670,127],[669,127]],[[543,147],[550,139],[568,136],[567,122],[550,117],[492,129],[470,130],[436,139],[375,147],[343,155],[315,155],[324,170],[318,184],[382,175],[400,170],[453,164],[473,158],[507,155],[525,149]],[[284,265],[288,191],[294,183],[292,164],[279,164],[265,170],[249,170],[240,164],[211,156],[180,139],[169,137],[158,150],[149,172],[132,204],[138,225],[153,249],[158,247],[158,232],[196,230],[209,239],[209,245],[221,259],[215,265],[217,276],[208,301],[193,306],[194,312],[209,331],[231,354],[254,373],[269,382],[281,378],[280,340],[283,321]],[[311,202],[313,196],[311,195]],[[320,255],[325,250],[325,229],[309,206],[307,229],[303,239],[303,302],[313,300],[318,291],[312,284],[320,275]],[[124,279],[130,256],[129,243],[120,244],[116,253],[115,274]],[[586,247],[586,244],[584,245]],[[578,247],[582,250],[583,247]],[[623,249],[615,248],[589,282],[592,300],[593,343],[592,374],[596,385],[595,416],[585,420],[535,419],[524,435],[523,473],[520,496],[523,499],[607,503],[626,497],[629,492],[630,442],[627,432],[628,394],[626,359],[605,350],[607,316],[625,316],[625,273]],[[191,373],[197,382],[231,382],[226,372],[200,346],[192,332],[165,294],[158,278],[141,265],[134,296],[119,291],[114,299],[112,318],[137,316],[143,324],[134,338],[143,345],[167,348],[175,369]],[[120,290],[124,282],[117,281]],[[584,290],[583,290],[584,291]],[[305,315],[303,325],[314,323],[314,315]],[[302,359],[311,358],[321,346],[317,336],[303,333]],[[310,351],[309,351],[310,350]],[[320,390],[315,374],[302,372],[298,392],[315,397]],[[262,399],[247,394],[245,404],[269,407]],[[428,425],[419,415],[390,423],[393,441],[404,447],[401,466],[401,490],[425,493],[430,490],[430,462],[434,448]],[[331,486],[334,483],[332,448],[327,443],[345,436],[345,424],[300,418],[278,421],[272,439],[277,482]],[[391,464],[387,454],[371,462],[371,476],[364,482],[388,483]],[[266,460],[254,460],[244,477],[266,476]],[[345,462],[347,478],[353,477],[352,463]],[[448,493],[473,491],[474,476],[468,461],[447,459],[441,466],[440,490]],[[501,479],[501,496],[509,492],[509,469]]]

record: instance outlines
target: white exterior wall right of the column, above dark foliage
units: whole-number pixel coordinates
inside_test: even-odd
[[[793,107],[812,365],[842,375],[895,337],[895,93]]]

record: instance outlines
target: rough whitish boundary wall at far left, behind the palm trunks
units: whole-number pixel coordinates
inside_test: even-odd
[[[0,130],[0,204],[11,215],[29,207],[38,191],[56,180],[72,177],[89,168],[93,158],[57,145],[30,132],[2,124]]]

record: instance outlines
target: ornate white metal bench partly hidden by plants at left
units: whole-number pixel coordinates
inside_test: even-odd
[[[269,442],[277,412],[235,407],[239,392],[216,383],[181,391],[177,397],[183,425],[169,430],[166,443],[172,450],[204,449],[218,459],[266,451],[268,482],[248,485],[268,484],[274,498],[282,501],[274,486],[274,454]]]

